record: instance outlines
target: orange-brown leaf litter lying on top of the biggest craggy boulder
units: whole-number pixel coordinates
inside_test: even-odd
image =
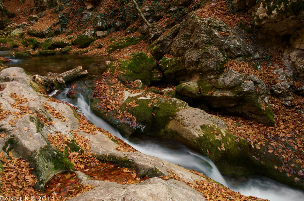
[[[217,18],[231,27],[243,23],[251,27],[249,14],[229,13],[230,8],[225,0],[214,0],[213,2],[205,5],[204,8],[197,10],[197,15],[202,18]]]

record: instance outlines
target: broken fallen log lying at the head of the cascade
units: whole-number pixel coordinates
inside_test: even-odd
[[[53,73],[48,72],[46,76],[34,75],[32,77],[33,81],[40,85],[46,86],[47,92],[52,92],[54,90],[61,91],[67,82],[71,82],[75,79],[84,77],[88,75],[87,70],[82,70],[82,66],[77,66],[76,68],[63,72],[63,73]]]

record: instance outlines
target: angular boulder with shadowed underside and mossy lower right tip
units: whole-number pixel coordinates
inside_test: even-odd
[[[270,94],[265,83],[256,76],[246,77],[228,69],[217,77],[199,79],[197,83],[200,91],[196,102],[199,100],[208,107],[253,119],[267,126],[274,125]]]

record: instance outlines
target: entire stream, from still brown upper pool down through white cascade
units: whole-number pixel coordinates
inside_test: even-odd
[[[3,51],[0,52],[0,56],[9,58],[9,53],[9,51]],[[89,106],[89,99],[93,92],[94,81],[106,70],[106,60],[108,59],[104,57],[86,55],[52,55],[26,59],[12,59],[11,62],[6,63],[5,65],[8,67],[21,67],[32,74],[40,75],[45,75],[47,72],[62,73],[81,65],[83,69],[88,70],[89,76],[73,82],[77,84],[75,89],[79,92],[80,97],[77,99],[69,99],[66,96],[69,89],[67,87],[56,98],[78,106],[83,114],[96,126],[123,139],[142,153],[156,156],[163,160],[179,164],[185,168],[204,173],[204,175],[211,177],[243,195],[257,196],[271,201],[303,200],[303,191],[285,186],[267,177],[252,176],[235,178],[232,176],[222,176],[208,157],[188,149],[179,142],[152,137],[131,137],[126,139],[121,136],[115,128],[96,116]]]

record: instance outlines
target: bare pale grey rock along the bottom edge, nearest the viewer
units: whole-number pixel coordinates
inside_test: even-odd
[[[89,182],[90,183],[90,182]],[[202,193],[192,189],[186,183],[169,179],[150,178],[134,185],[121,185],[110,182],[94,182],[97,185],[91,191],[81,194],[71,201],[117,200],[117,201],[196,201],[206,200]]]

